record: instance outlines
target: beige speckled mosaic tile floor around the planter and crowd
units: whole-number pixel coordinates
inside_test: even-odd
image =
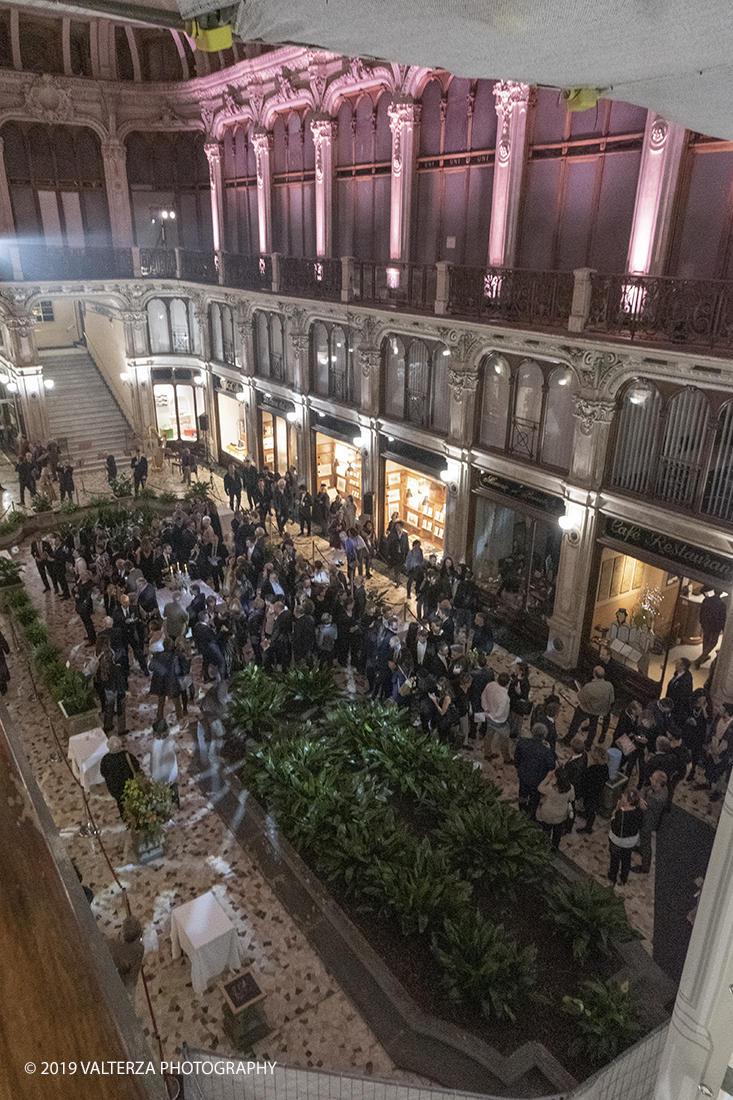
[[[3,472],[0,472],[0,479]],[[6,484],[6,482],[2,482]],[[220,483],[218,487],[220,486]],[[162,486],[161,486],[162,487]],[[220,508],[227,525],[228,509]],[[296,542],[300,542],[296,538]],[[304,539],[303,552],[332,558],[320,539]],[[28,543],[21,546],[20,557],[26,562],[26,584],[42,616],[50,624],[54,639],[68,650],[80,654],[84,629],[68,603],[61,602],[53,593],[44,593],[37,572],[30,559]],[[395,588],[376,576],[372,586],[384,593],[385,600],[401,618],[409,617],[409,606],[403,588]],[[10,629],[3,618],[3,629]],[[11,635],[9,634],[9,640]],[[11,642],[12,644],[12,642]],[[76,648],[78,647],[78,648]],[[56,719],[52,704],[44,704],[31,681],[28,662],[22,651],[9,660],[12,680],[6,696],[9,708],[24,738],[26,752],[44,798],[64,837],[69,854],[77,860],[86,883],[92,886],[92,911],[105,934],[117,934],[124,912],[119,887],[94,836],[81,835],[85,809],[80,791],[58,751],[52,730],[54,723],[62,745],[65,737],[62,723]],[[502,670],[515,658],[496,648],[492,664]],[[195,672],[198,669],[195,667]],[[359,680],[359,678],[355,678]],[[533,697],[541,697],[553,686],[551,678],[532,670]],[[349,674],[349,684],[354,678]],[[133,669],[130,676],[128,703],[128,747],[138,755],[143,767],[150,754],[150,726],[154,703],[150,701],[147,681]],[[568,689],[564,696],[560,729],[569,722],[573,701]],[[192,710],[195,730],[196,707]],[[256,1053],[270,1060],[294,1066],[317,1066],[336,1071],[374,1074],[379,1077],[415,1081],[414,1076],[397,1070],[376,1042],[357,1010],[339,987],[330,979],[315,952],[300,934],[267,883],[245,851],[233,840],[221,824],[212,806],[200,794],[193,780],[186,777],[186,759],[193,752],[189,728],[176,734],[180,766],[182,811],[167,833],[166,856],[151,866],[131,862],[125,846],[125,831],[117,807],[103,785],[95,787],[90,807],[95,822],[118,876],[128,891],[133,913],[144,925],[146,946],[145,972],[157,1027],[163,1041],[164,1057],[180,1052],[185,1041],[190,1046],[215,1050],[228,1049],[221,1025],[222,998],[211,982],[207,991],[196,996],[190,982],[190,968],[184,957],[171,957],[171,909],[183,904],[207,890],[214,890],[228,908],[239,934],[242,959],[251,963],[262,988],[266,991],[265,1010],[273,1026],[272,1034],[258,1044]],[[561,748],[561,752],[568,750]],[[477,761],[479,748],[468,750]],[[492,762],[481,763],[484,773],[495,779],[506,798],[516,798],[514,769]],[[678,789],[677,801],[691,813],[699,814],[713,825],[719,805],[710,804],[704,794],[693,792],[688,785]],[[604,823],[599,820],[591,836],[575,833],[561,842],[561,850],[578,866],[604,884],[608,869],[608,840]],[[650,949],[654,920],[654,876],[632,876],[623,894],[630,920]],[[136,1011],[147,1034],[151,1034],[142,983],[136,993]]]

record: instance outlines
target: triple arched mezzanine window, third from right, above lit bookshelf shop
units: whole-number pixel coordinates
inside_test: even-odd
[[[420,428],[448,431],[450,352],[425,340],[390,337],[383,346],[384,411]]]

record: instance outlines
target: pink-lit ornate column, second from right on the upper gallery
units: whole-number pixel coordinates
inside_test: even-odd
[[[499,127],[489,227],[489,264],[492,267],[512,267],[524,176],[529,85],[497,80],[494,100]]]

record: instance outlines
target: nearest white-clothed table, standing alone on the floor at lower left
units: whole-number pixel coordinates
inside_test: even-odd
[[[203,993],[211,978],[241,965],[237,930],[209,890],[171,912],[173,958],[190,959],[194,989]]]

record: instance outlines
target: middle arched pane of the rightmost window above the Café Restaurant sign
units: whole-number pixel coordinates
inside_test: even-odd
[[[694,502],[702,473],[709,416],[708,398],[692,386],[669,402],[657,470],[658,499],[683,505]]]

